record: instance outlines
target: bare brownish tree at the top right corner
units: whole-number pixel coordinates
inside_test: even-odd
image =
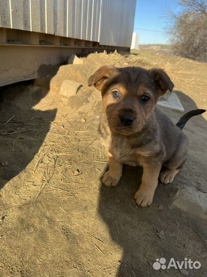
[[[183,57],[207,62],[207,0],[179,0],[181,11],[170,14],[168,33]]]

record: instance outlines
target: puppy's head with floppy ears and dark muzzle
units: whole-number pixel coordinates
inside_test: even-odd
[[[88,80],[102,92],[110,129],[130,135],[144,127],[158,97],[174,85],[162,69],[100,67]]]

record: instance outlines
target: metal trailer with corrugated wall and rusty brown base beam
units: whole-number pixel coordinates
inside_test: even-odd
[[[128,51],[136,0],[1,0],[0,86],[72,53]]]

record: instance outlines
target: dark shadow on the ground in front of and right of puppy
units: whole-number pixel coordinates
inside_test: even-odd
[[[186,112],[197,108],[189,96],[179,91],[176,93]],[[177,122],[182,115],[169,109],[162,111],[173,118],[174,122]],[[195,248],[197,234],[189,227],[188,215],[176,208],[172,209],[171,203],[172,196],[180,185],[197,186],[196,180],[202,178],[204,182],[205,157],[202,153],[204,145],[201,143],[204,140],[203,130],[206,130],[206,121],[201,115],[187,123],[184,132],[188,136],[192,132],[197,135],[197,138],[189,137],[190,147],[194,149],[190,150],[187,163],[177,175],[173,185],[158,185],[150,207],[140,208],[133,200],[133,195],[141,184],[142,168],[124,166],[123,177],[118,186],[101,185],[99,213],[109,228],[112,240],[123,248],[117,277],[166,276],[167,273],[168,276],[183,276],[179,270],[172,268],[169,272],[154,270],[152,264],[157,258],[162,257],[167,261],[170,258],[183,261],[190,253],[192,260],[202,262],[201,253],[205,251],[203,241],[200,239],[198,251],[198,248]],[[197,160],[195,153],[198,155]],[[203,160],[200,160],[200,156],[203,156]],[[199,172],[194,172],[195,167]],[[204,232],[202,222],[197,219],[192,222],[200,233]],[[204,266],[205,264],[202,264],[198,270],[188,270],[189,276],[201,276]]]

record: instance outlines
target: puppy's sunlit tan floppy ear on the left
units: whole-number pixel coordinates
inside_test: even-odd
[[[102,90],[105,82],[118,74],[118,70],[111,65],[100,67],[92,76],[89,77],[88,86],[95,86],[98,90]]]

